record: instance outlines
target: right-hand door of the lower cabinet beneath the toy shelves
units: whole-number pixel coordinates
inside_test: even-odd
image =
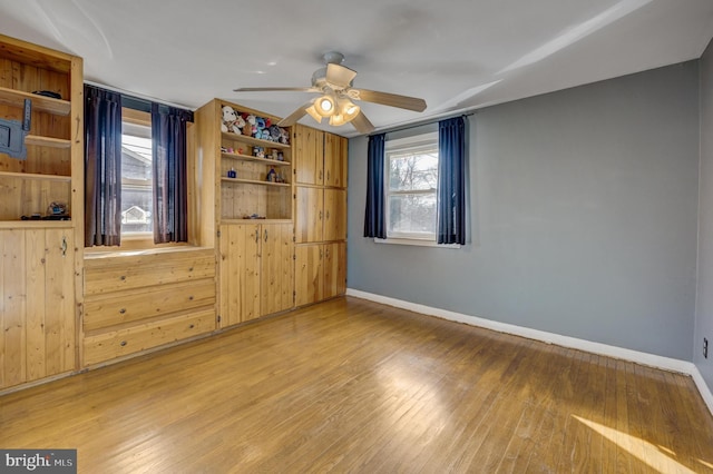
[[[261,265],[261,314],[290,309],[294,295],[292,224],[262,226]]]

